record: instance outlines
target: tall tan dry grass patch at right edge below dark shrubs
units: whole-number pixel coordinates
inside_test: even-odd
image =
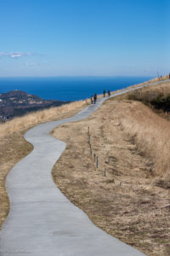
[[[140,102],[122,113],[122,128],[133,137],[140,152],[154,160],[154,175],[170,177],[170,123]]]

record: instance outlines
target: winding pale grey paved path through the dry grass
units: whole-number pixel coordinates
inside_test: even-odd
[[[97,228],[55,186],[51,169],[65,143],[49,135],[54,127],[86,119],[104,102],[98,100],[74,117],[37,125],[26,132],[34,149],[9,172],[10,212],[0,233],[0,256],[140,256]]]

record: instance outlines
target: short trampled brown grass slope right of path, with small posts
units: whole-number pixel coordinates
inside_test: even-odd
[[[134,139],[148,128],[147,124],[150,128],[142,133],[145,142],[158,134],[163,139],[160,131],[170,125],[140,102],[110,100],[88,119],[61,125],[54,130],[54,136],[65,141],[67,148],[52,174],[59,189],[99,228],[147,255],[167,256],[169,189],[156,186],[156,158],[154,154],[143,154],[139,144],[145,147],[145,143],[141,140],[136,144]],[[157,131],[154,124],[158,124]],[[99,156],[99,169],[94,155],[90,156],[88,126],[93,154]],[[160,147],[160,141],[156,143]]]

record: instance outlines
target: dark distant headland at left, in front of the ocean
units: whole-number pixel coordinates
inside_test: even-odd
[[[39,96],[26,93],[23,90],[11,90],[0,94],[0,122],[22,116],[31,111],[58,107],[68,102],[43,100]]]

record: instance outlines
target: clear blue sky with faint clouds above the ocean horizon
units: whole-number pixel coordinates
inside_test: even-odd
[[[0,77],[170,72],[169,0],[0,0]]]

